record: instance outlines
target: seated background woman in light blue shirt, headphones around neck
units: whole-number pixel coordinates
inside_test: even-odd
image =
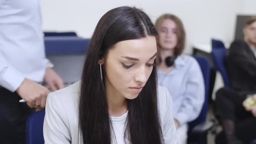
[[[203,106],[203,75],[193,57],[182,55],[185,31],[181,20],[164,14],[157,19],[155,27],[158,31],[158,84],[171,94],[177,137],[181,144],[187,144],[187,123],[198,117]]]

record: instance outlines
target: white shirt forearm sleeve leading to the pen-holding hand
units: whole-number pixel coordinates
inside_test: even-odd
[[[3,53],[0,51],[0,85],[14,92],[24,79],[25,76],[12,65],[8,64]]]

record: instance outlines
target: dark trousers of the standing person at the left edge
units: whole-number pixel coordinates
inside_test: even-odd
[[[0,88],[0,144],[25,144],[26,119],[34,111],[16,92]]]

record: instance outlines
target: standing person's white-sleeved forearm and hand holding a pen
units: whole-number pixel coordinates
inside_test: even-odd
[[[0,51],[0,85],[11,92],[17,92],[31,108],[45,107],[49,90],[29,79],[10,65]]]

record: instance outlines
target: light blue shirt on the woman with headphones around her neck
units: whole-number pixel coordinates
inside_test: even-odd
[[[168,74],[158,69],[158,85],[170,92],[174,118],[182,125],[200,114],[205,93],[203,74],[192,56],[178,56],[174,63],[174,69]]]

